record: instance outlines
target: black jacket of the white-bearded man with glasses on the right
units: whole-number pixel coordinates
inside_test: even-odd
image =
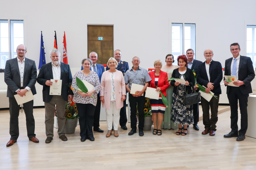
[[[222,65],[218,61],[212,61],[209,67],[210,81],[208,80],[206,72],[206,62],[199,64],[197,68],[197,83],[207,87],[207,84],[213,83],[213,90],[211,90],[215,95],[221,94],[220,82],[222,81]]]

